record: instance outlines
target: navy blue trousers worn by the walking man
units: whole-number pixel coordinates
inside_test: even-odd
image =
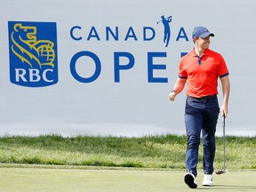
[[[215,156],[215,132],[220,107],[217,96],[210,99],[186,100],[185,124],[188,137],[186,150],[186,170],[197,175],[198,149],[200,137],[203,137],[203,167],[204,174],[212,174]]]

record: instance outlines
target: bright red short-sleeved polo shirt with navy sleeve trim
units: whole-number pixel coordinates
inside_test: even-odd
[[[191,97],[218,94],[218,77],[223,76],[228,76],[228,68],[218,52],[206,49],[199,58],[193,49],[180,59],[179,77],[187,78],[186,93]]]

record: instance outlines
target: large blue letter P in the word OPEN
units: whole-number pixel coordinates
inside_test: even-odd
[[[120,65],[120,57],[128,58],[127,64]],[[127,70],[134,66],[135,60],[130,52],[114,52],[115,82],[120,82],[120,70]]]

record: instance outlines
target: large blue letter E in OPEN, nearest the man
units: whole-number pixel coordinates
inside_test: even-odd
[[[154,69],[166,69],[166,65],[153,63],[155,57],[166,57],[166,52],[148,52],[148,83],[168,83],[166,77],[154,77]]]

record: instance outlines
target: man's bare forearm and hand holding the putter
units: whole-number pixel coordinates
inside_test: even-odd
[[[228,116],[228,99],[230,92],[230,82],[228,76],[223,76],[220,78],[220,82],[222,84],[222,93],[223,93],[223,103],[220,108],[220,112],[222,116]]]

